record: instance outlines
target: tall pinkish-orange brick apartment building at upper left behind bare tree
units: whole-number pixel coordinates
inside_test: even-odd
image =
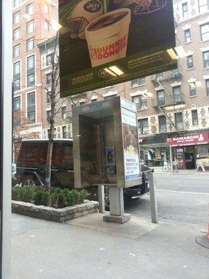
[[[13,0],[13,92],[16,119],[27,134],[42,137],[42,75],[39,43],[54,36],[57,1]],[[20,135],[20,138],[22,135]]]

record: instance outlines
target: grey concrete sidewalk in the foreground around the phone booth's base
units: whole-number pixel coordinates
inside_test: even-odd
[[[198,229],[100,213],[68,223],[13,214],[11,279],[207,279],[209,252]]]

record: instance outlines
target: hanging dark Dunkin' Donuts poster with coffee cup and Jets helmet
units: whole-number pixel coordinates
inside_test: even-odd
[[[61,97],[177,68],[172,2],[59,0]]]

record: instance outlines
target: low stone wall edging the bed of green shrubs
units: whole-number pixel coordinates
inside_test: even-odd
[[[85,199],[83,204],[76,204],[75,206],[68,206],[63,209],[54,209],[53,207],[43,205],[38,206],[29,202],[12,201],[12,212],[62,223],[80,216],[98,212],[98,206],[98,202],[88,201],[87,199]]]

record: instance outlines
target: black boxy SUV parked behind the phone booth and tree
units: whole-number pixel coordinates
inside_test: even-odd
[[[48,140],[23,140],[17,158],[16,178],[22,186],[45,184]],[[125,198],[137,199],[149,192],[146,165],[141,166],[142,184],[124,188]],[[52,151],[52,186],[69,187],[74,185],[72,140],[54,140]],[[89,189],[88,189],[89,190]],[[91,188],[91,199],[97,199],[97,189]],[[105,204],[109,205],[109,188],[105,188]]]

